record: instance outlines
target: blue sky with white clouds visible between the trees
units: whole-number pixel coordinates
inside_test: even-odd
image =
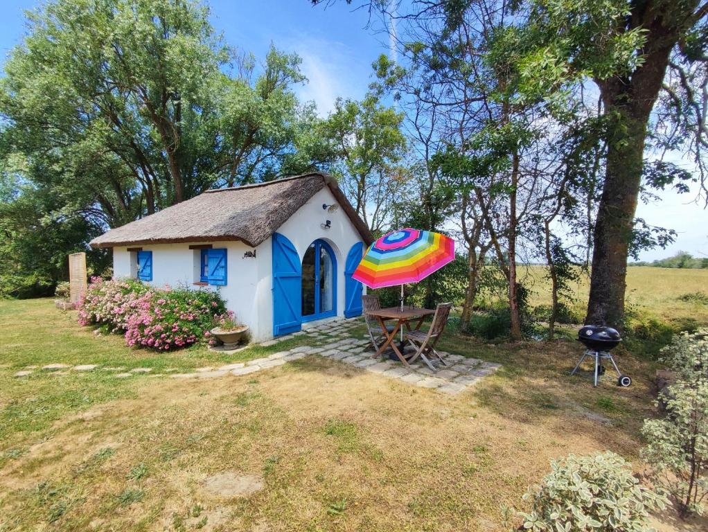
[[[1,62],[25,33],[23,12],[39,4],[38,0],[2,2]],[[387,36],[366,28],[367,12],[354,11],[343,1],[327,9],[313,8],[309,0],[212,0],[210,6],[212,23],[229,45],[253,52],[259,59],[265,57],[270,43],[297,52],[309,79],[298,89],[299,96],[314,100],[322,115],[331,110],[337,96],[361,98],[372,79],[372,62],[388,51]],[[703,203],[695,203],[690,194],[668,191],[661,196],[660,203],[640,203],[636,215],[651,225],[676,230],[677,242],[666,250],[646,251],[641,259],[659,259],[678,250],[708,256],[708,210]]]

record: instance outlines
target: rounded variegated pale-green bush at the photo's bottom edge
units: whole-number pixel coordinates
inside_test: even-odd
[[[552,472],[530,489],[532,509],[523,516],[531,531],[646,531],[649,514],[665,499],[639,485],[632,468],[615,453],[569,455],[553,460]]]

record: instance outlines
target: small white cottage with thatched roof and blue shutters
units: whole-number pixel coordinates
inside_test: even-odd
[[[206,191],[93,239],[113,275],[219,290],[262,341],[361,314],[368,227],[326,174]]]

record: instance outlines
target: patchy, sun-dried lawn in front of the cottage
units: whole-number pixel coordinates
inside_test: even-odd
[[[238,358],[157,355],[96,338],[50,300],[2,301],[0,531],[501,531],[500,504],[523,509],[551,458],[610,449],[641,471],[651,363],[622,356],[634,385],[593,390],[568,375],[570,342],[443,343],[503,368],[457,396],[318,356],[210,380],[15,378],[49,362],[193,368],[285,343]],[[261,489],[228,497],[208,482],[220,473]],[[658,523],[706,526],[671,513]]]

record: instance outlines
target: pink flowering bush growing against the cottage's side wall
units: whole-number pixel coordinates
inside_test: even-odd
[[[218,293],[158,289],[135,280],[92,278],[79,305],[80,324],[101,324],[124,333],[129,346],[159,351],[209,342],[212,322],[222,315],[227,310]]]

